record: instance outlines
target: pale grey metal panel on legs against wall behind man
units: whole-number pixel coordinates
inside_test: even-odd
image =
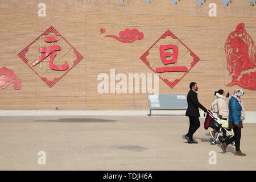
[[[147,94],[147,101],[150,108],[149,116],[152,115],[152,110],[185,110],[188,108],[187,94]]]

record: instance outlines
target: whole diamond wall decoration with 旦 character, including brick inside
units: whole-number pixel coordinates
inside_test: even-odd
[[[175,51],[167,52],[167,49],[164,50],[164,54],[168,53],[169,55],[164,56],[164,58],[172,57],[172,60],[176,59],[176,61],[165,60],[167,62],[172,62],[168,64],[164,64],[163,57],[161,57],[161,47],[174,45],[179,48],[179,53],[176,55],[177,59],[174,58]],[[174,47],[172,46],[172,47]],[[160,48],[159,48],[160,47]],[[178,51],[176,51],[177,53]],[[164,32],[162,36],[156,42],[147,49],[146,52],[140,57],[140,59],[158,76],[166,82],[170,88],[174,88],[174,86],[185,76],[187,73],[193,68],[193,66],[200,60],[198,56],[195,55],[180,39],[178,39],[170,30]],[[161,60],[162,59],[162,60]],[[166,67],[167,66],[167,67]],[[161,67],[163,70],[168,70],[166,72],[157,72],[156,68]],[[180,71],[177,68],[181,67],[185,70]],[[166,69],[170,68],[170,69]],[[158,69],[161,70],[161,69]]]

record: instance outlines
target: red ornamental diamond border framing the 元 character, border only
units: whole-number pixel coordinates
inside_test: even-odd
[[[69,68],[67,71],[65,71],[65,73],[61,76],[61,77],[56,77],[53,80],[48,80],[46,77],[41,77],[34,68],[32,68],[30,65],[28,65],[28,60],[26,58],[26,53],[28,52],[28,48],[34,44],[36,42],[36,40],[38,40],[40,38],[40,36],[43,35],[48,35],[50,32],[54,33],[56,36],[61,36],[62,39],[65,40],[65,42],[67,42],[69,44],[69,46],[71,46],[73,48],[73,53],[76,55],[76,60],[73,61],[73,65],[71,68]],[[46,82],[46,84],[49,86],[49,88],[51,88],[54,84],[56,84],[57,81],[59,81],[63,76],[65,76],[73,67],[75,67],[75,65],[77,65],[82,59],[84,59],[84,57],[53,27],[49,27],[46,31],[44,31],[40,36],[38,36],[38,38],[36,38],[33,42],[31,42],[27,47],[25,47],[22,51],[20,51],[18,53],[18,56],[24,61],[24,63],[26,63],[28,65],[28,67],[30,67],[35,73],[36,75],[38,75],[44,82]]]

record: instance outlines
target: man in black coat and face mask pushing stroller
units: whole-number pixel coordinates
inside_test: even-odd
[[[193,140],[193,134],[196,132],[197,129],[200,127],[200,121],[199,121],[199,107],[204,110],[205,112],[207,109],[200,104],[197,98],[197,84],[196,82],[191,82],[189,85],[189,92],[187,96],[187,102],[188,102],[188,109],[186,111],[186,116],[189,117],[189,129],[188,134],[185,135],[185,138],[188,140],[188,143],[197,143],[195,140]]]

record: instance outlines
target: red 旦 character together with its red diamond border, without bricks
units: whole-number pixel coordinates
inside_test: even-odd
[[[187,50],[187,52],[190,52],[190,56],[192,57],[190,62],[191,67],[185,67],[183,66],[172,66],[172,67],[160,67],[160,68],[153,68],[155,65],[155,61],[156,63],[158,62],[157,60],[148,60],[148,55],[150,55],[150,50],[156,46],[156,43],[159,43],[161,39],[166,39],[167,36],[170,36],[172,39],[176,39],[176,42],[179,42],[182,46],[181,48]],[[172,50],[171,52],[166,52],[168,49]],[[184,53],[185,55],[186,53]],[[159,48],[159,55],[160,55],[160,59],[162,59],[162,63],[163,65],[167,65],[167,64],[176,64],[177,63],[177,59],[179,56],[179,47],[176,46],[175,44],[168,44],[168,45],[161,45]],[[167,59],[170,58],[171,59]],[[183,56],[181,56],[182,58]],[[170,88],[174,88],[174,86],[193,68],[193,66],[200,60],[200,58],[198,56],[195,55],[195,53],[193,53],[191,51],[191,49],[189,49],[187,46],[185,46],[185,44],[183,42],[181,42],[180,39],[178,39],[174,34],[172,34],[172,32],[170,30],[167,30],[166,32],[164,32],[164,34],[158,39],[156,40],[156,42],[149,48],[147,49],[146,52],[143,53],[143,55],[140,57],[141,60],[155,73],[164,73],[164,72],[184,72],[184,74],[179,77],[179,78],[174,78],[174,81],[170,81],[170,78],[163,78],[162,76],[160,76],[158,74],[158,76],[164,81],[166,82],[166,84],[168,86],[170,86]],[[181,59],[180,58],[180,59]],[[152,65],[152,66],[151,66]],[[172,78],[172,77],[171,77]]]

